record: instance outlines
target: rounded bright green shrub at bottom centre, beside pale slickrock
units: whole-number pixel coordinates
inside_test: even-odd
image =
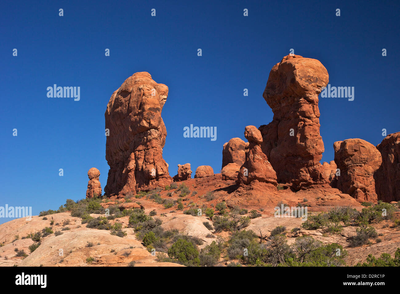
[[[185,266],[199,266],[199,252],[191,242],[179,239],[168,249],[168,256]]]

